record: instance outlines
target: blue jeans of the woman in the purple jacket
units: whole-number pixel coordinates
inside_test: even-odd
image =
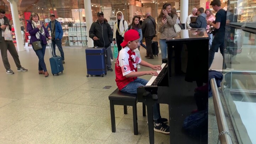
[[[41,45],[42,45],[42,49],[34,50],[33,44],[32,44],[32,48],[36,52],[36,55],[39,59],[38,70],[47,71],[46,64],[44,63],[44,54],[45,54],[45,50],[46,50],[46,44],[41,43]]]

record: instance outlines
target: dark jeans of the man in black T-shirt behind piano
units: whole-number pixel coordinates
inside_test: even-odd
[[[209,68],[212,65],[214,54],[215,52],[218,52],[218,49],[220,49],[220,53],[222,54],[224,58],[224,41],[225,36],[220,36],[219,34],[216,34],[214,36],[214,39],[212,41],[212,46],[209,50]],[[225,68],[225,62],[223,62],[224,68]]]

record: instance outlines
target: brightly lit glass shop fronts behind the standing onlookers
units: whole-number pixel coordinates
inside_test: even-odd
[[[50,21],[49,14],[53,13],[55,15],[55,18],[62,24],[63,45],[87,46],[89,37],[87,37],[88,34],[86,32],[85,8],[91,10],[92,22],[97,21],[97,12],[103,11],[105,18],[113,28],[117,11],[121,11],[124,14],[124,20],[128,24],[131,23],[134,16],[140,16],[141,20],[143,20],[146,12],[150,12],[151,16],[158,21],[158,15],[160,14],[162,5],[166,2],[169,2],[172,8],[177,10],[178,16],[180,16],[181,0],[91,0],[89,7],[85,7],[84,0],[19,0],[17,7],[20,24],[25,27],[25,46],[30,46],[30,36],[26,32],[26,23],[29,20],[31,12],[37,12],[45,26]],[[222,2],[223,7],[226,7],[226,0]],[[191,14],[193,7],[210,8],[209,3],[210,0],[188,0],[188,15]],[[1,8],[6,10],[6,16],[9,18],[10,23],[13,23],[10,3],[1,0],[1,4]],[[14,42],[16,42],[14,28],[12,34]]]

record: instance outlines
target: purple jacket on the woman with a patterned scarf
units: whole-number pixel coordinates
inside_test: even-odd
[[[30,44],[32,44],[32,42],[38,41],[37,37],[36,37],[36,33],[39,31],[38,28],[33,28],[32,27],[32,23],[31,21],[27,21],[27,31],[30,34]],[[46,34],[46,37],[44,37],[42,34],[40,34],[40,41],[43,41],[43,44],[47,44],[46,38],[50,37],[48,31],[46,30],[46,28],[43,26],[44,29],[44,33]]]

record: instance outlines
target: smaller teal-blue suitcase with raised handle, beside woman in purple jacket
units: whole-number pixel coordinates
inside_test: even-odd
[[[50,40],[49,41],[49,44],[50,44],[50,49],[51,49],[51,53],[53,52],[53,47],[52,47],[52,41]],[[58,55],[53,55],[52,53],[52,56],[49,60],[50,60],[50,66],[51,66],[51,70],[52,70],[52,74],[57,74],[59,75],[59,73],[63,73],[63,70],[64,70],[64,67],[63,67],[63,64],[62,64],[62,58]]]

